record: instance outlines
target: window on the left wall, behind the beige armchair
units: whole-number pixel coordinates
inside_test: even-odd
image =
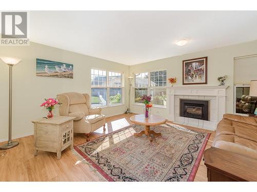
[[[91,69],[91,106],[122,103],[122,73]]]

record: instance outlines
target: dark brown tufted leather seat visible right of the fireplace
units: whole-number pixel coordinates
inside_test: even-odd
[[[242,95],[241,99],[236,99],[236,113],[252,114],[256,108],[256,97]]]

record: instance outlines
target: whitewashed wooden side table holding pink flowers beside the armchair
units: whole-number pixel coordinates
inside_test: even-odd
[[[37,156],[40,150],[57,153],[57,159],[60,159],[65,148],[70,146],[70,149],[73,149],[74,119],[75,117],[56,116],[32,121],[34,123],[34,156]]]

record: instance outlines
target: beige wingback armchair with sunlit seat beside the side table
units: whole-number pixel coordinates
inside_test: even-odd
[[[76,117],[74,120],[74,133],[84,133],[89,141],[91,132],[103,126],[105,132],[105,116],[101,108],[90,108],[90,97],[81,93],[62,93],[57,95],[62,105],[59,107],[61,116]]]

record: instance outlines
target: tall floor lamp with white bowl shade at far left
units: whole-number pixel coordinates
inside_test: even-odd
[[[0,150],[6,150],[7,148],[19,145],[19,142],[12,141],[12,67],[17,65],[22,59],[6,56],[0,56],[0,59],[9,66],[9,139],[8,143],[0,146]]]

